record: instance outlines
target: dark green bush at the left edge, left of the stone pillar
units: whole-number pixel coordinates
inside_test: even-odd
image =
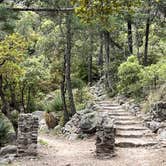
[[[0,147],[7,142],[10,126],[5,122],[0,113]]]

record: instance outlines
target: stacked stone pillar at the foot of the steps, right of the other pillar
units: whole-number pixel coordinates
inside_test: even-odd
[[[96,156],[97,158],[112,158],[115,156],[115,128],[108,116],[101,117],[96,132]]]

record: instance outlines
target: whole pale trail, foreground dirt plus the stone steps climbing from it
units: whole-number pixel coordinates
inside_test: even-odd
[[[149,145],[149,135],[143,134],[147,129],[133,123],[134,117],[126,115],[121,109],[108,103],[104,103],[102,109],[116,117],[117,140],[119,140],[116,144],[123,147],[116,148],[116,157],[109,160],[97,159],[94,153],[94,137],[69,141],[50,135],[40,135],[39,139],[48,145],[39,145],[39,156],[35,159],[18,159],[13,166],[166,166],[166,148],[158,148],[158,144],[144,146]],[[135,119],[134,122],[138,120]],[[140,142],[145,139],[148,140],[147,143]]]

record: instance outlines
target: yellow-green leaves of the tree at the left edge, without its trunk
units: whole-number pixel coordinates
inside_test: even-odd
[[[9,35],[0,42],[0,74],[3,77],[14,80],[23,74],[20,63],[25,58],[27,46],[19,34]]]

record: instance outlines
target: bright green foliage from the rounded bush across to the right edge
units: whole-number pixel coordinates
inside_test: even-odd
[[[137,57],[131,56],[118,68],[119,91],[126,95],[140,96],[142,88],[151,90],[159,87],[166,80],[166,60],[143,67]]]

